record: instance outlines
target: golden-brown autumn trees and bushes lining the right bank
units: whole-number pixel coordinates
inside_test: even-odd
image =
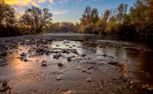
[[[96,8],[86,7],[80,31],[126,40],[153,42],[153,0],[136,0],[132,7],[120,4],[99,16]]]

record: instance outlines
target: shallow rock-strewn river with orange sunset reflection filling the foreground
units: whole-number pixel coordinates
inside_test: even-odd
[[[1,38],[0,94],[153,94],[153,51],[94,35]]]

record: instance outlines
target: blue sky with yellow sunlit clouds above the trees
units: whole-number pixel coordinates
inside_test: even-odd
[[[48,8],[53,14],[53,22],[79,22],[85,8],[90,6],[97,8],[102,16],[106,9],[116,8],[121,3],[129,6],[135,0],[5,0],[5,3],[12,5],[17,13],[24,13],[25,9],[37,6],[41,9]]]

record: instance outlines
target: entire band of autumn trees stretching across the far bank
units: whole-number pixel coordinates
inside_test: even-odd
[[[47,8],[31,7],[17,19],[15,9],[0,4],[0,36],[44,32],[92,33],[124,40],[153,42],[153,0],[136,0],[132,7],[121,3],[99,15],[97,8],[86,7],[80,23],[52,22]]]

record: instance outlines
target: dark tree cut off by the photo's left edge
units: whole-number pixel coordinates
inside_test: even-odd
[[[15,34],[15,10],[10,5],[0,4],[0,36],[10,36]]]

